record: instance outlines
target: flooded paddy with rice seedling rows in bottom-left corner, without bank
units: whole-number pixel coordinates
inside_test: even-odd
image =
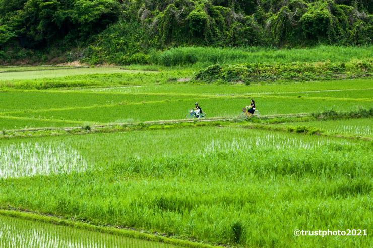
[[[67,226],[0,216],[2,248],[177,248],[177,246]]]

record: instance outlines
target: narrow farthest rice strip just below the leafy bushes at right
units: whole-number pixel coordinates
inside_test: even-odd
[[[203,95],[229,95],[229,94],[272,94],[277,93],[285,95],[301,95],[305,94],[317,94],[318,92],[323,93],[326,96],[333,94],[336,91],[346,91],[346,94],[352,93],[356,90],[358,92],[365,91],[365,89],[372,88],[372,80],[370,79],[352,79],[352,80],[335,80],[330,81],[314,81],[314,82],[282,82],[282,83],[261,83],[251,84],[250,86],[234,84],[161,84],[161,85],[139,85],[139,86],[124,86],[124,87],[112,87],[112,88],[92,88],[83,89],[82,91],[93,91],[93,92],[122,92],[122,93],[178,93],[178,94],[203,94]],[[312,94],[312,95],[311,95]],[[344,94],[344,93],[343,93]],[[346,95],[330,95],[333,97],[345,97]],[[319,96],[319,95],[315,95]],[[322,95],[323,96],[323,95]],[[354,94],[353,97],[358,96]],[[364,97],[368,97],[363,95]]]

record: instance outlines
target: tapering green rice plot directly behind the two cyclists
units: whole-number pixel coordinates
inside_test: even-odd
[[[192,98],[190,100],[173,100],[161,102],[144,102],[121,105],[76,107],[69,109],[36,110],[30,112],[10,113],[16,117],[87,121],[96,123],[138,122],[151,120],[184,119],[188,111],[199,102],[203,111],[211,117],[236,118],[242,107],[250,104],[254,97],[217,97]],[[318,99],[303,99],[286,96],[255,97],[257,109],[262,115],[319,113],[330,109],[354,111],[359,107],[370,108],[373,102],[349,101],[346,105],[339,99],[324,100],[320,105]]]

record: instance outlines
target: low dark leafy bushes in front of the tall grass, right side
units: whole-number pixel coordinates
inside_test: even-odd
[[[256,63],[256,64],[215,64],[201,69],[195,75],[197,81],[243,82],[251,84],[266,80],[316,80],[330,78],[356,78],[371,76],[373,60],[353,62],[302,63]]]

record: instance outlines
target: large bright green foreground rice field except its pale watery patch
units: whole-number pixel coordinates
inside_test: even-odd
[[[2,145],[21,142],[63,142],[89,168],[0,179],[2,208],[248,247],[370,244],[365,236],[341,241],[293,235],[294,229],[369,229],[369,221],[361,221],[371,218],[367,142],[195,127]]]

